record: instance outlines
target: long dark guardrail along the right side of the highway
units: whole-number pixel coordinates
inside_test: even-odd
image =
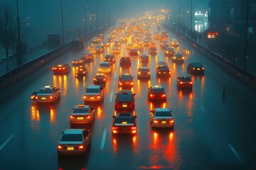
[[[198,42],[192,40],[187,35],[184,35],[176,28],[172,28],[171,26],[166,25],[163,26],[164,28],[167,28],[176,33],[177,35],[179,35],[183,40],[186,40],[187,42],[191,43],[191,45],[193,45],[198,51],[202,52],[206,57],[208,57],[210,60],[218,64],[219,67],[224,69],[226,72],[231,74],[236,79],[240,80],[243,84],[245,84],[245,86],[252,89],[252,91],[256,92],[256,77],[253,74],[250,74],[245,69],[238,67],[237,65],[226,60],[217,53],[208,50],[206,47],[203,47],[202,45],[198,44]]]

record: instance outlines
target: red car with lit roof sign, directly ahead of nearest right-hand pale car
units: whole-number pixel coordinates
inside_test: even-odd
[[[151,86],[148,89],[148,99],[149,101],[166,101],[166,92],[164,87],[161,85]]]

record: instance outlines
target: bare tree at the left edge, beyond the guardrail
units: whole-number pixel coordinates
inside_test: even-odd
[[[0,40],[6,51],[6,59],[9,56],[9,47],[16,42],[16,11],[9,4],[0,5]]]

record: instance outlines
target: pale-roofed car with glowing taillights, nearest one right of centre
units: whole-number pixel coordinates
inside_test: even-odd
[[[154,108],[149,121],[152,128],[174,128],[174,116],[169,108]]]

